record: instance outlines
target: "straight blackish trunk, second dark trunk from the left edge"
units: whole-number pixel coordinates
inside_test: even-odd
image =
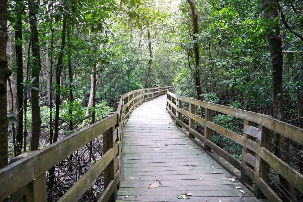
[[[23,1],[17,1],[17,21],[15,25],[15,40],[22,40],[22,12],[24,11]],[[15,43],[15,50],[16,50],[16,66],[18,67],[18,71],[16,74],[16,93],[17,93],[17,131],[16,131],[16,144],[17,144],[17,155],[21,154],[22,151],[22,140],[23,140],[23,47],[21,43]]]

